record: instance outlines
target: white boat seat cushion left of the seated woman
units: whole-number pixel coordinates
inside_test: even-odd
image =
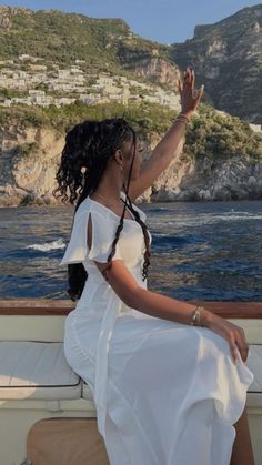
[[[67,363],[61,342],[1,341],[1,400],[81,397],[81,378]]]

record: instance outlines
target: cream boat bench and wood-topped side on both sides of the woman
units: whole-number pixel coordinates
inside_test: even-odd
[[[198,303],[245,331],[246,364],[254,373],[246,407],[255,465],[262,465],[262,304]],[[97,416],[88,384],[63,354],[63,322],[72,307],[71,301],[0,302],[0,465],[21,465],[28,433],[39,421]]]

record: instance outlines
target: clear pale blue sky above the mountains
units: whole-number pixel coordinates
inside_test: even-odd
[[[259,3],[258,0],[9,0],[0,6],[57,9],[91,18],[122,18],[144,39],[174,43],[192,39],[196,24],[212,24]]]

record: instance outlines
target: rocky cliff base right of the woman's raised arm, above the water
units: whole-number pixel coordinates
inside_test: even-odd
[[[262,199],[262,161],[187,160],[180,154],[141,196],[143,201],[228,201]]]

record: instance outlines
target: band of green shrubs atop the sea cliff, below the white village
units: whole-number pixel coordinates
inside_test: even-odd
[[[4,108],[0,113],[2,129],[10,125],[52,128],[66,134],[74,124],[87,120],[125,118],[142,138],[151,133],[163,134],[172,124],[175,112],[161,105],[143,103],[123,107],[117,103],[87,105],[80,101],[57,108],[18,105]],[[33,149],[33,148],[32,148]],[[30,148],[27,146],[24,154]],[[21,153],[23,151],[21,150]],[[249,123],[226,113],[220,113],[210,105],[201,104],[185,133],[185,156],[231,158],[235,154],[262,158],[262,135],[251,130]]]

